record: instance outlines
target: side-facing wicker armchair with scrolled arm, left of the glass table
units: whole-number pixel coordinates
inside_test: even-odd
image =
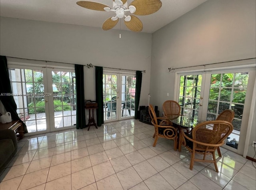
[[[150,117],[152,119],[151,123],[155,127],[155,133],[153,136],[155,138],[155,141],[154,141],[153,147],[156,146],[158,137],[162,137],[162,138],[174,140],[174,150],[176,151],[177,139],[178,139],[177,130],[174,127],[170,126],[170,122],[165,117],[156,117],[156,113],[152,105],[149,105],[148,109],[149,109],[148,111],[149,111]]]

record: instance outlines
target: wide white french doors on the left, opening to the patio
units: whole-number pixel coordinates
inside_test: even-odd
[[[68,129],[76,124],[74,70],[8,67],[17,113],[30,135]]]

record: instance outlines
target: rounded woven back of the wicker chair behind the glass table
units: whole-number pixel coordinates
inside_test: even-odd
[[[180,116],[180,105],[174,100],[167,100],[163,103],[164,116],[169,120],[176,119]]]

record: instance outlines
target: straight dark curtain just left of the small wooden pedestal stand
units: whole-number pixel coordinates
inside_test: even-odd
[[[84,65],[75,65],[76,72],[76,129],[86,127],[84,108]]]

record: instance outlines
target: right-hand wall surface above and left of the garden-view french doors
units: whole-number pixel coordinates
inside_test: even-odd
[[[174,98],[177,70],[169,72],[168,67],[178,68],[256,57],[255,7],[255,0],[209,0],[154,32],[150,103],[158,105],[162,111],[162,103]],[[255,63],[255,59],[252,63]],[[219,64],[218,67],[234,64]],[[204,67],[183,70],[194,69]],[[169,97],[166,96],[167,93]],[[255,125],[252,128],[255,128]],[[252,139],[256,139],[255,133]]]

